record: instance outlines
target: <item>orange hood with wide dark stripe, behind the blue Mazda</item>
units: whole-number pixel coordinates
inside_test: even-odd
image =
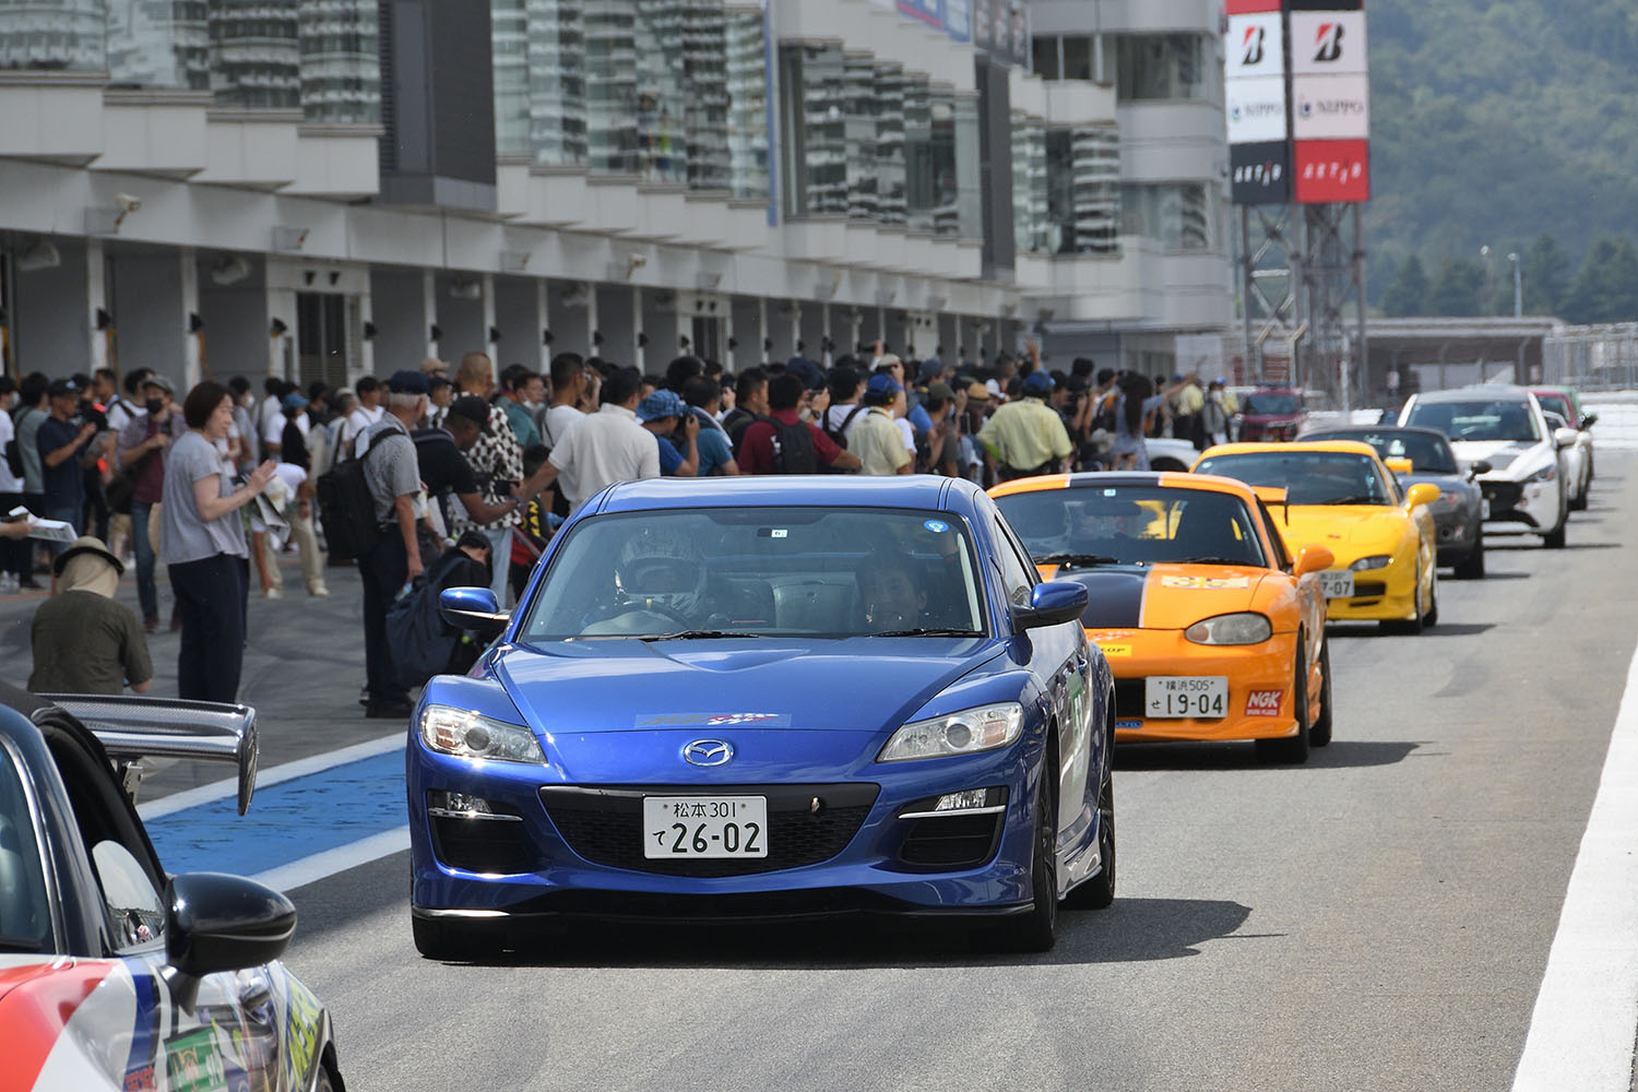
[[[1089,630],[1188,629],[1201,619],[1247,611],[1268,570],[1253,565],[1111,565],[1053,573],[1083,584]]]

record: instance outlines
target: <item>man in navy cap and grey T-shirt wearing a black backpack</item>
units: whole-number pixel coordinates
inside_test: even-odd
[[[395,372],[387,380],[387,413],[364,434],[364,480],[375,501],[380,535],[359,557],[364,581],[364,665],[369,678],[367,717],[408,717],[410,693],[398,681],[387,647],[387,607],[421,575],[414,498],[421,491],[410,429],[426,416],[426,375]]]

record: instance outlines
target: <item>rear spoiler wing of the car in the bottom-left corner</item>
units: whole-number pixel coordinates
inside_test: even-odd
[[[231,761],[239,768],[239,814],[256,792],[256,709],[177,697],[41,694],[77,719],[123,768],[144,758]],[[136,799],[141,773],[123,769]],[[133,776],[134,774],[134,776]]]

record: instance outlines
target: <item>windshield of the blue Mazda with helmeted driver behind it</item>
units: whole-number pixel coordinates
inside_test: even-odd
[[[981,635],[981,589],[948,512],[614,512],[568,534],[518,640]]]

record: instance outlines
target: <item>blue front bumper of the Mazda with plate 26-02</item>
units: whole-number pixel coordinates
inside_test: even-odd
[[[991,755],[925,763],[870,763],[868,779],[822,784],[645,784],[568,786],[554,779],[554,766],[477,763],[428,751],[411,740],[408,758],[411,905],[418,915],[513,918],[531,915],[596,917],[806,917],[845,912],[876,914],[1009,914],[1027,909],[1029,860],[1040,740],[1025,735]],[[976,787],[1002,787],[1002,810],[986,815],[899,819],[932,797]],[[600,789],[603,792],[586,792]],[[840,850],[824,860],[771,871],[735,874],[676,874],[649,871],[672,861],[647,863],[637,853],[640,830],[629,817],[604,815],[588,825],[565,810],[563,794],[609,796],[619,807],[644,792],[655,796],[724,794],[768,796],[770,853],[781,837],[809,838],[812,827],[785,827],[775,807],[794,792],[808,799],[844,797],[857,817]],[[450,819],[429,814],[428,792],[483,797],[508,819]],[[783,794],[783,796],[781,796]],[[819,815],[844,809],[821,804]],[[806,817],[801,817],[806,819]],[[794,822],[794,820],[791,820]],[[962,824],[929,828],[927,824]],[[984,827],[988,824],[988,827]],[[983,842],[983,832],[991,840]],[[793,833],[794,832],[794,833]],[[929,864],[925,846],[942,832],[966,837],[971,853],[955,864]],[[835,837],[835,830],[830,832]],[[636,838],[627,846],[626,835]],[[957,838],[960,840],[960,838]],[[806,842],[804,842],[806,845]],[[619,863],[609,863],[619,861]],[[685,864],[683,868],[693,868]],[[704,866],[703,866],[704,868]],[[734,866],[724,866],[732,869]],[[760,868],[760,864],[747,864]],[[709,871],[709,868],[706,868]]]

